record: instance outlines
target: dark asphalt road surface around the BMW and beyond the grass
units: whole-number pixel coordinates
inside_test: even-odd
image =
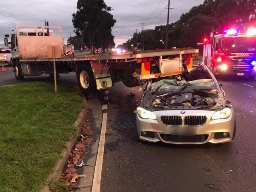
[[[48,75],[22,82],[51,81]],[[75,73],[58,82],[77,84]],[[236,113],[237,133],[222,145],[170,145],[137,139],[133,111],[141,100],[137,88],[117,83],[109,90],[101,192],[256,191],[256,81],[222,78]],[[10,67],[0,71],[0,86],[20,83]],[[132,92],[134,97],[128,96]],[[102,101],[103,103],[103,101]]]

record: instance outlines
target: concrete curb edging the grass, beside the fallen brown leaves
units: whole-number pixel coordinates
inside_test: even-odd
[[[70,140],[66,143],[66,149],[63,150],[63,152],[61,154],[61,158],[59,158],[56,161],[51,174],[49,175],[49,177],[47,178],[47,181],[45,182],[46,185],[40,190],[40,192],[50,192],[50,189],[48,186],[49,181],[57,181],[59,179],[59,177],[61,176],[61,174],[63,173],[63,170],[66,168],[67,161],[68,161],[68,158],[70,157],[71,150],[74,147],[76,140],[77,140],[78,136],[80,135],[81,129],[86,120],[87,107],[88,107],[88,104],[87,104],[86,98],[84,97],[84,109],[81,110],[81,112],[78,116],[78,119],[74,123],[74,125],[76,127],[78,127],[78,129],[77,129],[76,133],[74,133],[74,135],[72,135],[70,137]]]

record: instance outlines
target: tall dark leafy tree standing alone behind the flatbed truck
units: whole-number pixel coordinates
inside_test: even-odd
[[[95,46],[113,45],[111,28],[116,20],[109,11],[111,7],[106,6],[104,0],[78,0],[77,2],[77,11],[72,14],[75,33],[83,38],[92,51]]]

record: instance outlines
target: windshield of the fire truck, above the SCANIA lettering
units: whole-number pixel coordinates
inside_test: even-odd
[[[224,37],[222,41],[224,52],[254,52],[256,37]]]

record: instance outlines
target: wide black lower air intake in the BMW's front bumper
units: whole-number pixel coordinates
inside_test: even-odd
[[[169,142],[203,143],[207,140],[209,135],[180,136],[180,135],[160,134],[160,136],[164,141],[169,141]]]

